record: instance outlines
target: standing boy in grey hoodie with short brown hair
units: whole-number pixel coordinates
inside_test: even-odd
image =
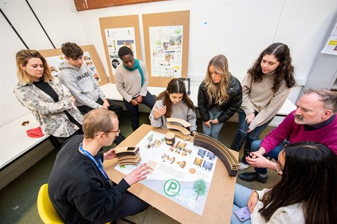
[[[116,112],[120,117],[122,106],[107,99],[102,92],[91,70],[84,64],[84,52],[80,46],[76,43],[64,43],[62,53],[66,61],[60,63],[59,78],[75,97],[78,110],[86,114],[95,108],[104,108]],[[114,142],[118,145],[124,139],[125,136],[119,134]]]

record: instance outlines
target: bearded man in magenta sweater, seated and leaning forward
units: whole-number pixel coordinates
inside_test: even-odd
[[[326,145],[337,154],[337,94],[330,90],[309,90],[298,100],[297,109],[291,112],[280,125],[271,131],[262,141],[253,141],[252,152],[246,157],[255,172],[239,174],[243,181],[266,183],[266,168],[282,171],[266,159],[277,161],[278,154],[288,143],[316,141]]]

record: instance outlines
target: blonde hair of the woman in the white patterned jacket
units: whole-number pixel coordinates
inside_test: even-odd
[[[20,50],[16,54],[17,59],[17,79],[19,83],[33,83],[33,79],[30,75],[21,68],[21,66],[26,66],[28,61],[33,58],[39,58],[44,65],[44,74],[42,75],[42,81],[48,82],[53,80],[51,75],[51,68],[49,67],[46,59],[37,50]]]

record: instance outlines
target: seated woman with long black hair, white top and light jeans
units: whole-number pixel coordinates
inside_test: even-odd
[[[286,145],[276,170],[282,179],[271,189],[236,185],[230,223],[337,223],[337,156],[329,147],[310,141]],[[246,206],[251,220],[239,221],[235,210]]]

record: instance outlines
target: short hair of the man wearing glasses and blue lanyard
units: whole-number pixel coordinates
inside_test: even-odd
[[[97,132],[108,132],[113,127],[112,119],[117,119],[115,112],[96,108],[83,116],[84,138],[93,139]]]

